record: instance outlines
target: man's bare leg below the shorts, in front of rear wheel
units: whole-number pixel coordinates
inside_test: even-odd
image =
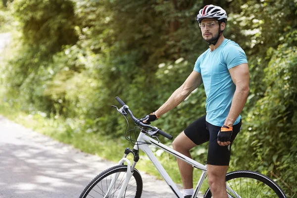
[[[226,173],[228,166],[207,164],[208,184],[213,198],[228,198],[226,191]]]

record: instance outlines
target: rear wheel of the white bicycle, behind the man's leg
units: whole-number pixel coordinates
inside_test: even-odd
[[[282,189],[269,177],[253,171],[233,171],[226,175],[226,185],[241,198],[287,198]],[[247,190],[246,190],[247,189]],[[232,198],[239,198],[227,190]],[[203,198],[211,198],[209,188]]]

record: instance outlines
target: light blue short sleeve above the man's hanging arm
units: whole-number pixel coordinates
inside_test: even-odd
[[[224,61],[228,69],[247,63],[245,51],[238,45],[230,45],[224,52]]]

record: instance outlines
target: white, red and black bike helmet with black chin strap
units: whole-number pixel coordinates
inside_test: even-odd
[[[223,34],[224,30],[221,30],[221,23],[222,22],[227,23],[227,13],[220,6],[216,6],[216,5],[212,5],[212,4],[205,5],[202,9],[200,9],[200,11],[197,15],[196,21],[198,23],[201,23],[201,21],[206,18],[212,18],[212,19],[218,20],[218,24],[219,24],[218,36],[213,38],[210,42],[208,42],[208,46],[210,46],[211,44],[215,46],[215,44],[218,42],[220,36]],[[201,29],[200,29],[200,31],[201,31]],[[202,31],[201,31],[201,33],[202,33]]]

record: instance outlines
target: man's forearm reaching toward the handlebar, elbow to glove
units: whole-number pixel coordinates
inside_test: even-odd
[[[175,90],[175,92],[173,92],[169,99],[160,108],[158,108],[158,110],[155,111],[155,115],[160,117],[164,113],[173,109],[182,101],[184,101],[190,95],[190,93],[191,92],[189,91],[183,91],[182,87],[178,88],[177,90]]]

